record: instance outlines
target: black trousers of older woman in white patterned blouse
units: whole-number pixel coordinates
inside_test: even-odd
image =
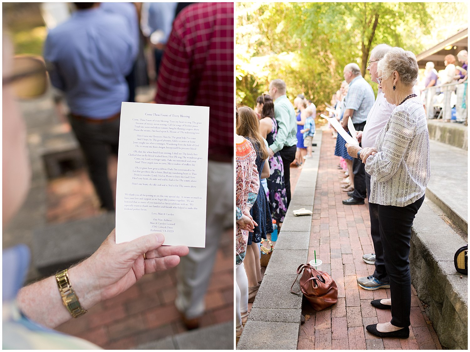
[[[411,226],[423,200],[424,196],[405,207],[377,205],[385,268],[390,277],[391,323],[400,328],[410,325],[411,275],[408,256]]]

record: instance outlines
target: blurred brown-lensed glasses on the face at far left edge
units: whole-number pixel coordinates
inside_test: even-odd
[[[38,97],[47,90],[46,65],[36,56],[17,55],[13,58],[13,74],[2,78],[2,85],[12,85],[20,99]]]

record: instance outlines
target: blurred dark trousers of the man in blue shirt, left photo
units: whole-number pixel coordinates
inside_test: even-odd
[[[70,117],[88,166],[88,174],[100,198],[102,208],[114,210],[114,199],[108,178],[108,156],[118,155],[119,118],[102,123],[90,123]]]

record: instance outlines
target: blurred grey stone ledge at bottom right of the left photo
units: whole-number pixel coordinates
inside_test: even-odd
[[[227,321],[140,344],[133,350],[233,350],[234,332],[233,321]]]

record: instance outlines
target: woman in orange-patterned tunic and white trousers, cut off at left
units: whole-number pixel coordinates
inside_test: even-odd
[[[238,112],[237,112],[238,123]],[[235,134],[236,139],[236,338],[243,332],[243,325],[248,319],[248,279],[243,259],[248,242],[248,232],[257,226],[250,215],[250,209],[256,201],[259,190],[256,151],[250,141]]]

